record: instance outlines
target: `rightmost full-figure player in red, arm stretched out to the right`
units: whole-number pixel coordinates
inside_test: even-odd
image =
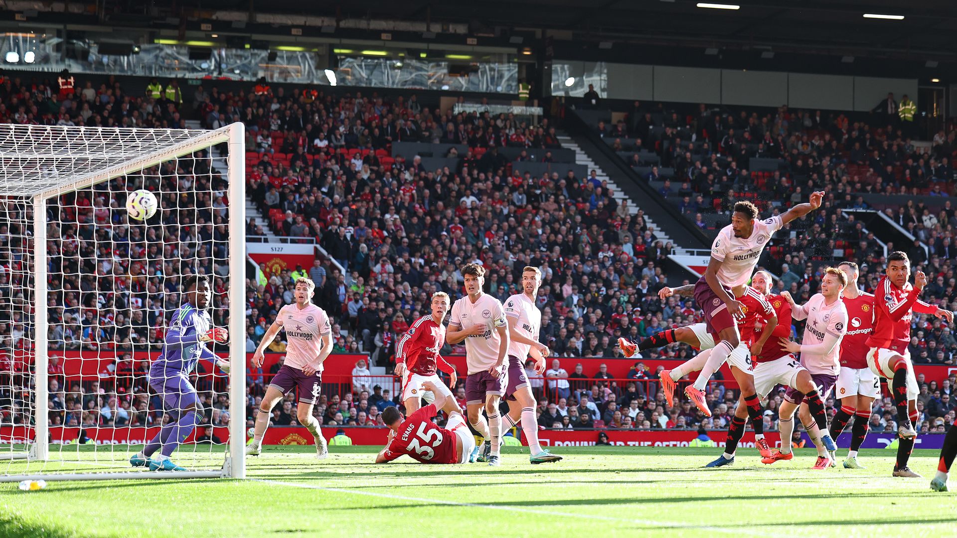
[[[885,276],[878,282],[874,293],[874,330],[867,339],[867,366],[874,373],[891,380],[891,393],[898,411],[897,462],[895,477],[920,478],[921,475],[907,467],[914,449],[913,421],[917,419],[917,378],[910,362],[910,322],[913,312],[933,314],[952,323],[953,312],[919,301],[917,296],[924,291],[927,277],[923,271],[914,273],[914,285],[910,279],[910,258],[898,251],[887,257]]]

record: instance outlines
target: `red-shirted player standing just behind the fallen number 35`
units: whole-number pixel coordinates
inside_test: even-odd
[[[434,395],[423,392],[422,384],[432,381],[447,397],[452,397],[449,388],[456,386],[456,369],[438,354],[445,344],[445,327],[442,320],[450,307],[449,295],[436,292],[432,296],[432,315],[422,316],[409,327],[405,336],[395,347],[395,374],[402,378],[402,404],[406,413],[412,415],[420,407],[420,397],[429,402]],[[435,372],[436,368],[449,374],[449,387]]]

